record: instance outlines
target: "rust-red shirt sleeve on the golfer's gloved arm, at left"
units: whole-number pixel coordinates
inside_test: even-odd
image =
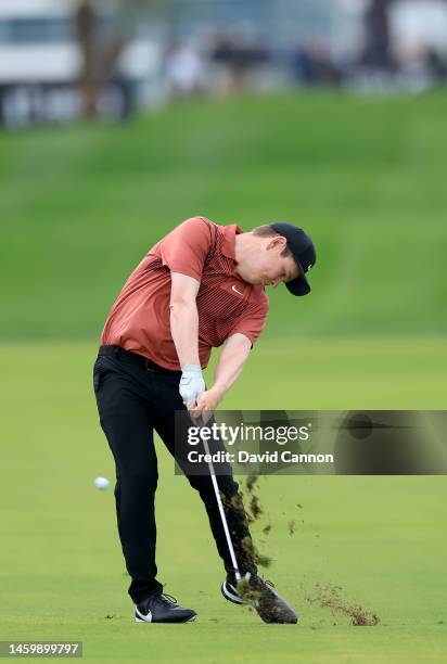
[[[210,246],[210,222],[204,217],[192,217],[168,233],[157,248],[163,265],[171,272],[180,272],[201,281]]]

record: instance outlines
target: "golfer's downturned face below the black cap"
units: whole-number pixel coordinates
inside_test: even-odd
[[[256,283],[277,288],[279,283],[292,281],[298,277],[299,270],[292,256],[281,256],[286,247],[285,238],[266,238],[256,263]]]

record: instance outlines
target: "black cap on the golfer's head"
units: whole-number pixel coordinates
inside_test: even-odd
[[[269,224],[279,235],[282,235],[288,241],[288,247],[293,254],[296,265],[299,268],[299,274],[292,281],[286,281],[285,285],[293,295],[307,295],[310,293],[310,286],[306,279],[306,272],[315,266],[317,254],[315,252],[314,242],[310,240],[302,228],[285,224],[285,221],[274,221]]]

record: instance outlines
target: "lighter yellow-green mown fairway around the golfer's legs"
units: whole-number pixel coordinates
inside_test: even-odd
[[[444,341],[303,340],[301,349],[283,340],[278,355],[274,341],[261,343],[225,407],[445,408]],[[265,537],[267,521],[256,525],[256,541],[273,558],[267,576],[302,616],[297,627],[271,626],[220,597],[205,512],[161,442],[159,578],[200,617],[135,625],[113,495],[93,487],[97,475],[114,476],[91,393],[94,350],[67,342],[0,350],[10,376],[0,393],[2,639],[82,640],[88,661],[445,661],[444,476],[263,477],[272,529]],[[380,625],[354,627],[310,603],[317,584],[342,587]]]

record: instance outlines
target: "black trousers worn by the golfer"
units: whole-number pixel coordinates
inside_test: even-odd
[[[191,420],[179,394],[179,372],[163,370],[118,346],[102,346],[93,369],[100,422],[115,459],[118,533],[131,577],[129,595],[136,603],[163,589],[156,579],[155,563],[154,499],[158,472],[153,432],[158,433],[183,468],[182,445],[177,444],[177,450],[175,445],[174,413],[181,410],[184,421],[191,424]],[[177,431],[177,442],[178,436]],[[186,474],[202,498],[218,553],[226,571],[231,573],[233,565],[210,475]],[[225,469],[225,474],[217,475],[217,483],[238,565],[241,572],[256,572],[248,523],[230,465],[228,473]]]

